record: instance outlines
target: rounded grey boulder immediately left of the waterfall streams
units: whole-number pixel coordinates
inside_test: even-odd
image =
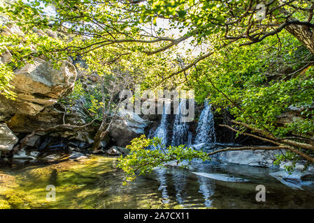
[[[127,146],[135,137],[145,133],[148,121],[134,112],[121,111],[120,118],[111,124],[109,134],[117,146]]]

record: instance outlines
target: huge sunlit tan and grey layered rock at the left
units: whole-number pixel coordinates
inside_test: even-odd
[[[15,71],[11,84],[15,86],[17,97],[16,100],[0,98],[0,117],[35,116],[71,93],[75,80],[76,68],[68,61],[63,61],[61,68],[56,70],[51,63],[34,59],[34,63]]]

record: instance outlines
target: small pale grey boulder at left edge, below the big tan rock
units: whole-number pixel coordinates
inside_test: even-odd
[[[0,123],[0,152],[8,152],[17,144],[18,138],[4,123]]]

